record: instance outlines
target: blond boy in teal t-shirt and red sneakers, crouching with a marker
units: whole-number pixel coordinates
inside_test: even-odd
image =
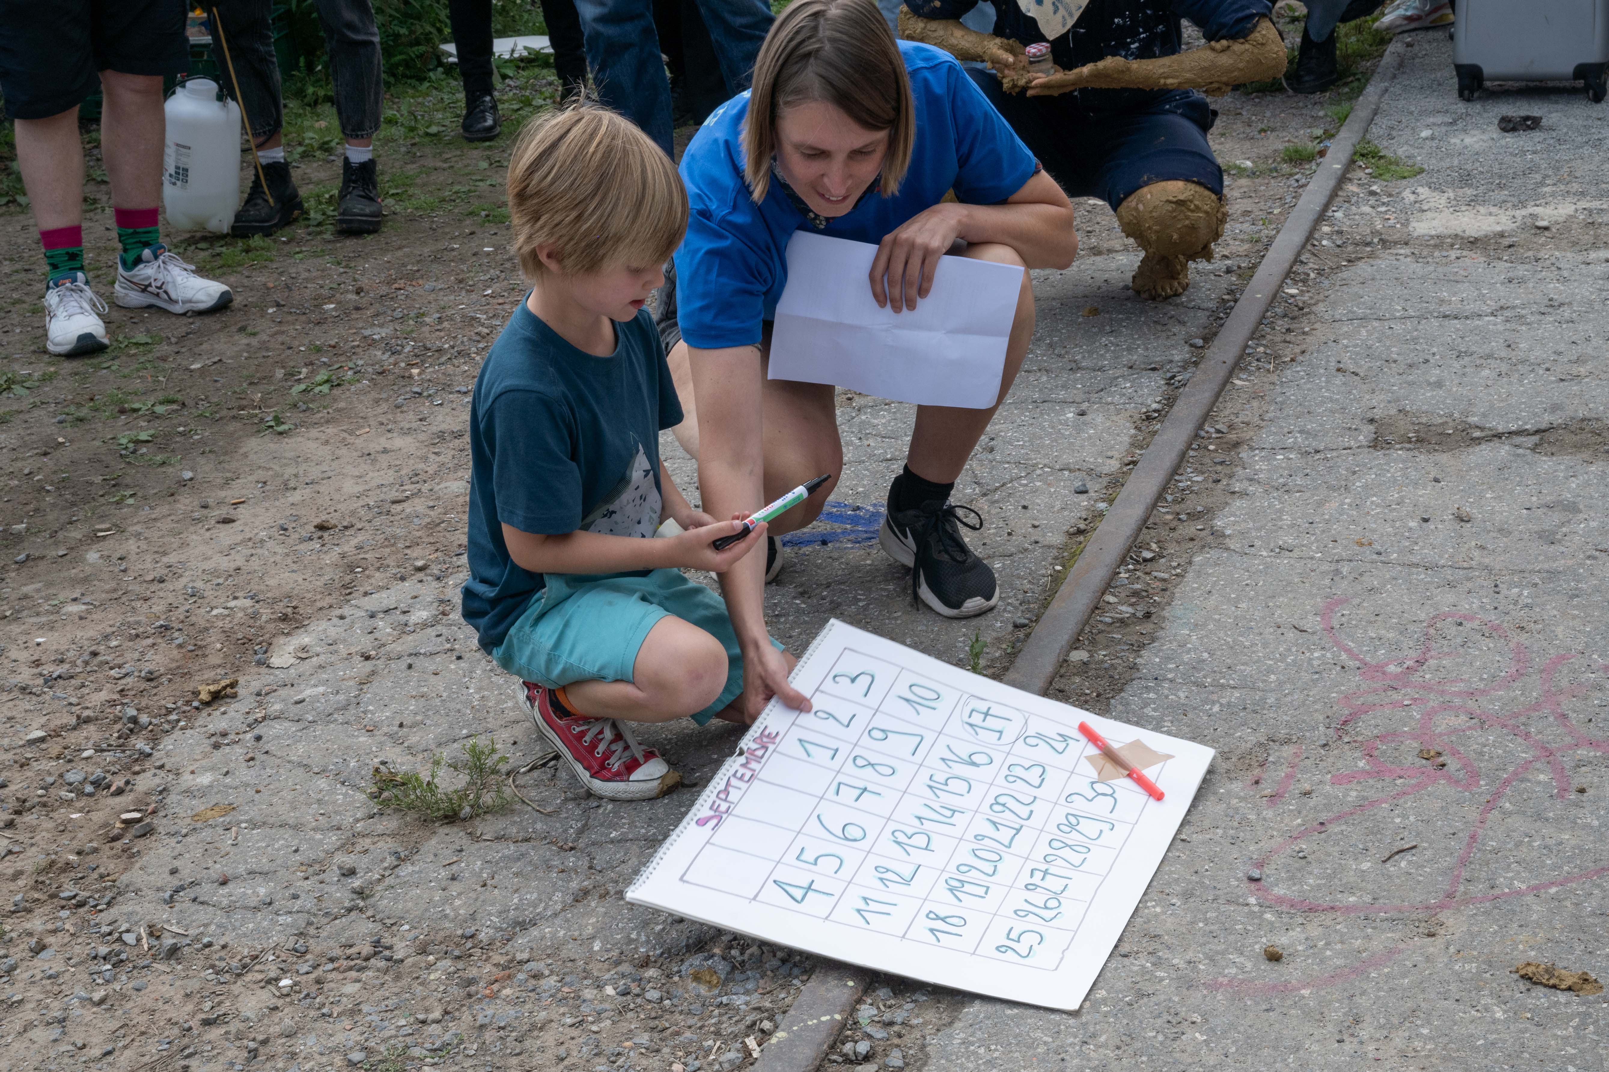
[[[742,722],[726,604],[679,567],[764,546],[761,526],[716,551],[740,526],[689,506],[660,463],[682,408],[642,307],[687,194],[637,127],[581,104],[521,130],[508,212],[533,288],[475,383],[463,619],[587,789],[656,797],[681,776],[628,723]],[[652,538],[665,519],[685,532]]]

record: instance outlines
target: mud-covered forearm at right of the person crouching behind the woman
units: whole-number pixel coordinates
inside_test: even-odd
[[[903,24],[901,24],[903,26]],[[1244,82],[1276,79],[1286,72],[1286,42],[1268,19],[1239,40],[1215,40],[1175,56],[1123,59],[1107,56],[1099,63],[1036,79],[1028,96],[1054,96],[1068,90],[1200,90],[1223,96]]]

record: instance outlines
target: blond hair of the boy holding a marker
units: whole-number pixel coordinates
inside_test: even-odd
[[[566,273],[656,265],[687,231],[687,190],[665,151],[629,119],[581,101],[531,119],[508,158],[508,217],[526,278],[557,246]]]

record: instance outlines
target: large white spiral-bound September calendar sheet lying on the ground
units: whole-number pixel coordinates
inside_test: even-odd
[[[626,900],[833,959],[1076,1009],[1213,751],[832,620]],[[1173,759],[1097,781],[1078,731]]]

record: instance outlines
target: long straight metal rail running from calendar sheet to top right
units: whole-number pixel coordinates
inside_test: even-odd
[[[1179,392],[1178,402],[1168,410],[1168,416],[1157,429],[1157,436],[1150,440],[1139,464],[1134,466],[1123,490],[1118,492],[1112,508],[1107,509],[1078,561],[1073,563],[1073,569],[1068,571],[1067,580],[1051,599],[1051,606],[1046,608],[1028,635],[1017,661],[1002,678],[1006,685],[1041,696],[1051,688],[1062,659],[1067,657],[1073,640],[1101,604],[1101,596],[1123,564],[1123,556],[1134,545],[1150,518],[1150,511],[1155,509],[1157,500],[1167,490],[1168,481],[1184,461],[1195,432],[1218,405],[1218,395],[1229,386],[1241,355],[1245,352],[1245,344],[1250,342],[1263,313],[1268,312],[1274,294],[1279,293],[1281,283],[1307,248],[1313,228],[1318,227],[1324,209],[1335,196],[1353,151],[1369,124],[1374,122],[1374,114],[1379,111],[1392,79],[1397,77],[1401,58],[1403,40],[1398,37],[1385,50],[1368,88],[1352,106],[1352,114],[1342,124],[1340,133],[1335,135],[1329,153],[1319,162],[1318,172],[1308,180],[1302,198],[1290,209],[1284,227],[1279,228],[1279,235],[1274,236],[1274,243],[1263,256],[1257,275],[1247,283],[1241,301],[1236,302],[1223,329],[1195,368],[1195,374]]]

